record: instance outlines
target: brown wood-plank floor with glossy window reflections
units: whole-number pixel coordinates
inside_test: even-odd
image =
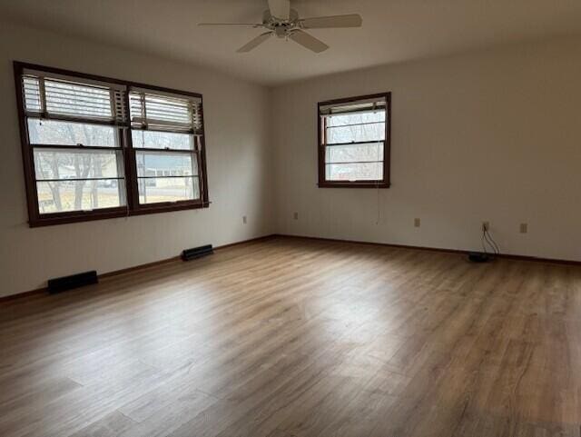
[[[0,329],[3,437],[580,436],[574,266],[277,238]]]

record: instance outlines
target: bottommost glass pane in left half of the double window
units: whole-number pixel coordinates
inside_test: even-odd
[[[38,182],[40,214],[113,208],[125,204],[123,180]]]

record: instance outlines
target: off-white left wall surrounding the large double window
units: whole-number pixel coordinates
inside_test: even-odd
[[[29,228],[13,60],[202,93],[210,208]],[[0,296],[50,277],[106,273],[272,233],[269,104],[269,89],[226,74],[2,24]]]

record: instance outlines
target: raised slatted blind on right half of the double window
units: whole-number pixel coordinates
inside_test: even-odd
[[[135,129],[198,134],[202,131],[202,99],[154,94],[132,89],[129,93],[131,126]]]

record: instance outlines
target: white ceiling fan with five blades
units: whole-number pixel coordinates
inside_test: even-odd
[[[307,34],[303,29],[328,29],[336,27],[360,27],[362,20],[358,14],[317,16],[313,18],[300,18],[297,11],[291,9],[291,0],[268,0],[269,8],[262,14],[262,23],[200,23],[199,25],[242,25],[254,28],[268,29],[261,35],[252,39],[248,44],[242,45],[238,53],[247,53],[258,47],[272,35],[279,38],[291,39],[309,50],[320,53],[329,48],[319,39]]]

